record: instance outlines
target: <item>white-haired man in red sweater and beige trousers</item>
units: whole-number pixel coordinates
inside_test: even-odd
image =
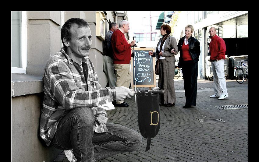
[[[130,23],[127,20],[122,20],[119,24],[119,29],[112,34],[112,50],[113,64],[116,74],[116,87],[125,86],[129,88],[131,83],[131,47],[136,44],[133,40],[131,43],[125,38],[124,33],[130,30]],[[128,107],[129,105],[123,101],[116,101],[115,106]]]

